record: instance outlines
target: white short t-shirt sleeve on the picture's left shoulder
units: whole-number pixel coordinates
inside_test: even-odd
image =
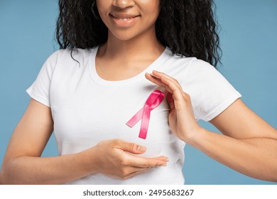
[[[58,62],[59,50],[50,55],[40,69],[36,80],[31,87],[28,87],[26,92],[36,101],[50,107],[50,84],[55,70],[55,65]]]

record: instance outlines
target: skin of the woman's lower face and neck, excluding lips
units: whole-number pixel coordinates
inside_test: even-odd
[[[107,2],[97,1],[101,8],[99,14],[109,33],[107,43],[97,53],[96,69],[104,80],[124,80],[145,70],[165,49],[158,42],[155,31],[159,4],[158,0]],[[134,26],[122,28],[114,23],[110,14],[139,17]]]

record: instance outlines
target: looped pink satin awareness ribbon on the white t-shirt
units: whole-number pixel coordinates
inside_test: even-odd
[[[134,127],[136,123],[141,120],[141,130],[139,131],[139,137],[146,139],[148,125],[150,120],[151,110],[158,107],[158,105],[163,102],[165,94],[160,90],[154,90],[151,95],[149,95],[142,109],[139,110],[126,124],[129,127]]]

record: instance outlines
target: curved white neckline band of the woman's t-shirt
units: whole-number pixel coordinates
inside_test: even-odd
[[[97,55],[97,51],[99,49],[99,46],[92,48],[92,54],[91,58],[89,59],[89,70],[90,74],[92,76],[92,79],[97,82],[99,85],[106,85],[106,86],[119,86],[119,85],[129,85],[130,83],[136,82],[141,79],[145,79],[144,75],[146,72],[150,73],[155,68],[157,68],[158,65],[160,65],[163,60],[165,59],[165,55],[170,53],[169,49],[166,47],[165,50],[163,50],[163,53],[151,63],[151,65],[148,65],[148,67],[140,72],[139,74],[135,75],[134,77],[130,77],[126,80],[117,80],[117,81],[110,81],[110,80],[104,80],[102,77],[99,77],[96,67],[95,67],[95,58]]]

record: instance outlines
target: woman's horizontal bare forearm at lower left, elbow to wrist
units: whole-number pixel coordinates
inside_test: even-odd
[[[87,151],[56,157],[21,156],[4,163],[4,184],[62,184],[93,173],[88,168]]]

